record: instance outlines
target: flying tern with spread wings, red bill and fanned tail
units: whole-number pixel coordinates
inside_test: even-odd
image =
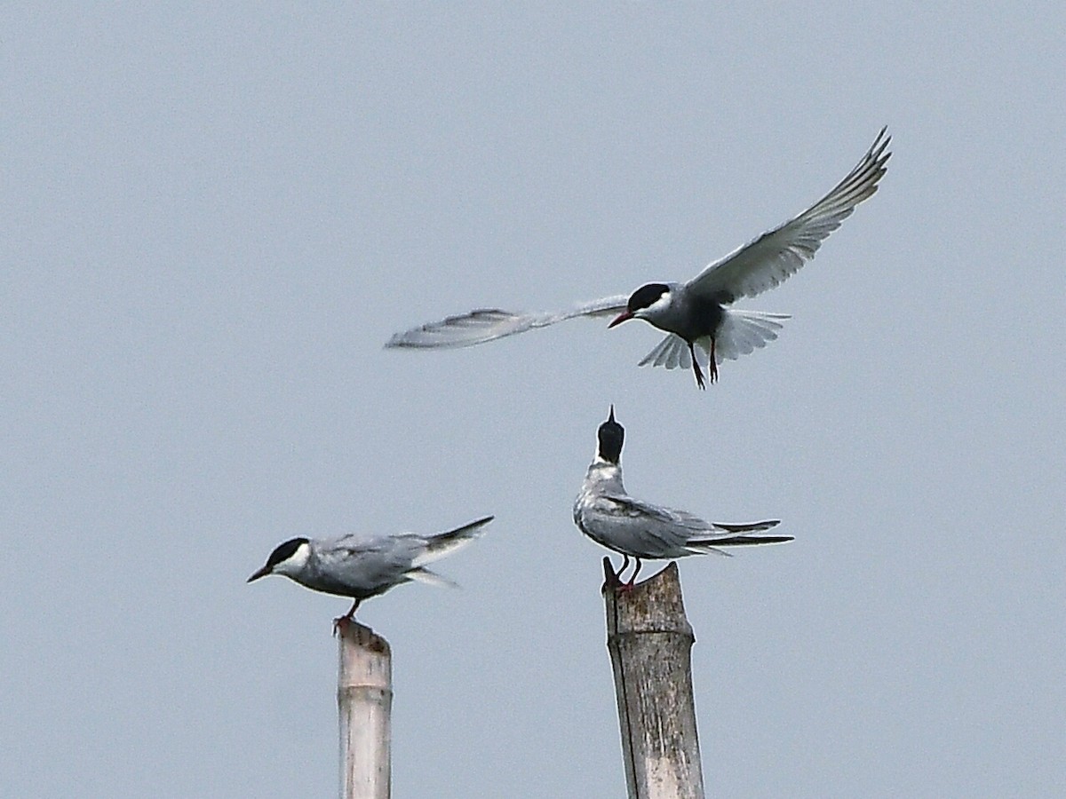
[[[877,191],[891,156],[891,136],[882,128],[862,160],[822,199],[773,230],[714,261],[684,283],[646,283],[630,295],[617,294],[582,303],[566,311],[513,313],[480,309],[394,335],[386,347],[433,348],[481,344],[505,336],[547,327],[577,316],[614,316],[608,327],[642,319],[669,333],[640,365],[692,366],[705,388],[700,364],[710,380],[725,359],[763,347],[777,338],[788,314],[726,308],[740,297],[773,289],[814,257],[822,242],[855,207]]]

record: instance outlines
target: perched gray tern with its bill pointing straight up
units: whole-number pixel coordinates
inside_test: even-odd
[[[623,589],[633,587],[642,560],[673,559],[712,552],[728,555],[718,548],[792,540],[792,536],[750,535],[777,526],[777,519],[750,524],[705,522],[684,510],[634,500],[621,485],[624,438],[625,428],[614,420],[612,405],[610,417],[599,426],[596,457],[588,466],[581,493],[574,502],[574,523],[581,532],[601,547],[621,554],[621,568],[616,572],[619,580],[629,566],[629,558],[636,558],[633,574]]]

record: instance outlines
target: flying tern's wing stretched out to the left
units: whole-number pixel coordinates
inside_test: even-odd
[[[385,346],[406,348],[466,347],[502,339],[504,336],[526,332],[536,327],[547,327],[575,316],[595,317],[620,313],[626,310],[628,300],[628,295],[616,294],[612,297],[581,303],[565,311],[533,311],[529,313],[512,313],[497,308],[482,308],[395,333]]]

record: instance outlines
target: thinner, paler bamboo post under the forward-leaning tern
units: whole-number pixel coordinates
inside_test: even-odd
[[[389,799],[392,652],[357,621],[339,620],[337,633],[340,798]]]

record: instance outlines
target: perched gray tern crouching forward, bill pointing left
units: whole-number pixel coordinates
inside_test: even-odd
[[[268,574],[284,574],[306,588],[355,600],[352,609],[335,623],[352,621],[359,603],[385,593],[389,588],[417,581],[431,585],[454,586],[450,580],[425,568],[455,550],[470,543],[484,532],[495,517],[464,524],[462,527],[420,536],[395,533],[382,536],[348,535],[341,538],[293,538],[279,544],[266,558],[266,565],[247,582]]]

